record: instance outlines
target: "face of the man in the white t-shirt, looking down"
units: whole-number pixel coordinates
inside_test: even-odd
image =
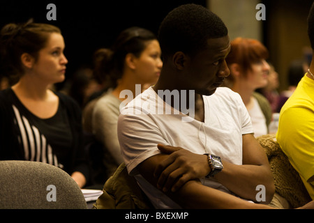
[[[230,52],[229,36],[207,40],[207,48],[189,57],[186,82],[189,89],[201,95],[215,93],[223,79],[230,75],[225,58]]]

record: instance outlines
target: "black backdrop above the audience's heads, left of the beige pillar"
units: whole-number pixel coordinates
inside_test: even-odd
[[[46,18],[47,4],[57,7],[57,20]],[[130,26],[141,26],[158,33],[165,15],[184,3],[206,6],[206,0],[185,1],[17,1],[1,0],[0,26],[10,22],[54,24],[61,29],[66,42],[66,77],[70,78],[80,66],[91,66],[92,54],[100,47],[110,47],[120,31]]]

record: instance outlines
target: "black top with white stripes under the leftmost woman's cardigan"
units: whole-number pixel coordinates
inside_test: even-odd
[[[51,118],[38,118],[22,105],[13,93],[14,124],[19,129],[18,140],[24,148],[25,160],[45,162],[63,168],[72,145],[72,135],[66,109],[60,105]]]

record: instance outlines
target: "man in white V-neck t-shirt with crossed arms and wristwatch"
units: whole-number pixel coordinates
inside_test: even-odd
[[[202,6],[170,12],[159,30],[163,69],[118,121],[121,153],[155,208],[271,208],[274,182],[230,71],[227,28]]]

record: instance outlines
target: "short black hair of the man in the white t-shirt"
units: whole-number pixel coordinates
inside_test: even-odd
[[[186,4],[174,8],[161,22],[158,31],[163,58],[175,52],[194,55],[207,47],[207,40],[227,36],[227,27],[204,6]]]

